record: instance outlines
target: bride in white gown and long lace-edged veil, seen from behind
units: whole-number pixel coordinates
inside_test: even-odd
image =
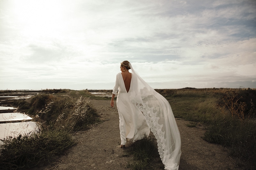
[[[132,70],[132,73],[129,70]],[[121,145],[126,138],[131,142],[148,136],[150,130],[157,140],[160,158],[167,170],[178,170],[180,163],[180,132],[169,102],[151,88],[133,70],[131,63],[123,61],[121,73],[116,75],[111,107],[117,94],[116,106],[119,114]]]

